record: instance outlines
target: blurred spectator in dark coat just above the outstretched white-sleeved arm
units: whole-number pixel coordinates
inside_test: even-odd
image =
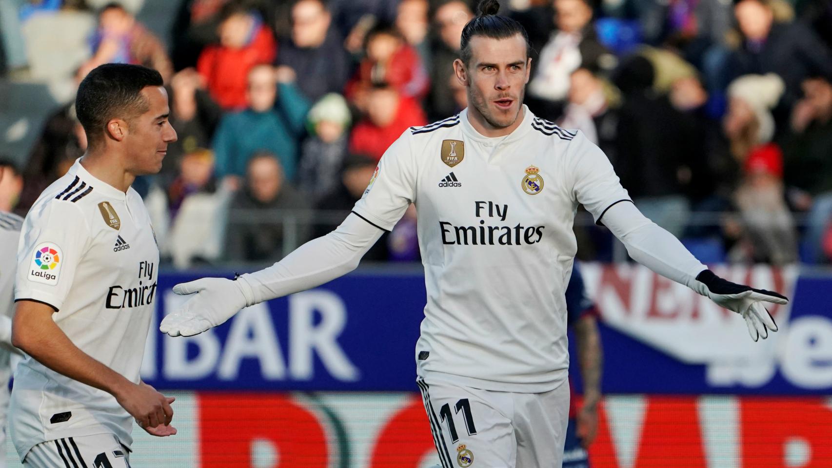
[[[280,160],[268,152],[251,158],[245,190],[235,195],[230,209],[232,225],[226,229],[225,243],[230,260],[276,262],[283,258],[284,251],[290,252],[308,237],[306,224],[285,224],[286,216],[273,213],[277,209],[310,209],[310,204],[286,182]],[[284,245],[289,240],[284,234],[293,234],[290,229],[295,229],[295,242]]]

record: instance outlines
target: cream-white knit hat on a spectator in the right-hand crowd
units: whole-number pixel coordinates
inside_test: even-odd
[[[754,111],[757,122],[760,123],[757,143],[767,143],[775,135],[775,119],[771,116],[771,109],[780,101],[784,90],[783,80],[774,73],[740,76],[728,85],[728,97],[745,101]]]

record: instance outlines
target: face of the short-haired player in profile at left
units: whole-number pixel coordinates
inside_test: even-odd
[[[135,175],[156,174],[161,170],[167,145],[176,141],[176,131],[168,121],[171,111],[165,88],[146,86],[141,95],[145,97],[148,109],[130,122],[125,141],[130,150],[127,169]]]

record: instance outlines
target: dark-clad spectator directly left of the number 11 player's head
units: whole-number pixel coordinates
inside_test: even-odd
[[[468,3],[462,0],[446,0],[433,14],[439,40],[432,47],[433,62],[429,67],[430,82],[438,83],[431,86],[427,101],[428,115],[432,121],[453,116],[457,112],[453,90],[443,84],[448,82],[448,74],[453,73],[453,60],[459,57],[463,27],[471,18],[473,12]]]

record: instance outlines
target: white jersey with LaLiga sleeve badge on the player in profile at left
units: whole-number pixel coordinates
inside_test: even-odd
[[[125,194],[97,180],[79,161],[27,214],[14,297],[51,306],[77,347],[138,383],[159,249],[136,190]],[[32,446],[64,437],[111,433],[129,447],[132,425],[109,393],[29,356],[17,366],[9,426],[21,460]]]

